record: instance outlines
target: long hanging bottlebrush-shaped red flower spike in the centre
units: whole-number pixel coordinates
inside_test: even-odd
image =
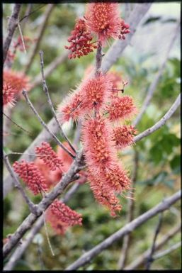
[[[110,123],[101,116],[84,121],[82,140],[93,194],[115,216],[121,208],[115,192],[130,189],[130,179],[118,162]]]

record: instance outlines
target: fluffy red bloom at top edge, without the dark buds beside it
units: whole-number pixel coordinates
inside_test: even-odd
[[[120,31],[120,13],[118,3],[96,2],[87,4],[86,26],[98,35],[104,45],[110,37],[117,38]]]

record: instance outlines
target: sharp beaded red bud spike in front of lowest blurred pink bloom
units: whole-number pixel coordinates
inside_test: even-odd
[[[69,206],[58,199],[50,205],[48,211],[51,211],[51,213],[56,216],[57,220],[62,221],[62,223],[66,223],[69,226],[82,225],[81,214],[73,211]]]

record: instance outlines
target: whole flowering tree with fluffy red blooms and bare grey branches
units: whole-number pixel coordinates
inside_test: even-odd
[[[127,44],[130,43],[130,39],[134,35],[134,27],[136,28],[137,24],[140,23],[150,5],[137,5],[128,17],[128,21],[127,18],[124,21],[120,16],[120,5],[118,3],[98,2],[86,4],[86,12],[81,18],[76,18],[74,29],[71,31],[69,38],[67,38],[69,45],[65,45],[64,49],[67,53],[60,60],[63,61],[68,57],[70,63],[74,61],[72,59],[76,58],[80,59],[81,62],[86,55],[91,54],[95,56],[95,65],[86,69],[81,83],[77,85],[74,91],[65,96],[57,106],[56,111],[50,99],[50,92],[45,80],[47,71],[48,74],[51,73],[55,69],[55,64],[52,64],[50,69],[44,69],[43,52],[40,51],[42,79],[39,80],[39,77],[37,77],[33,81],[26,75],[32,65],[33,58],[37,54],[47,19],[55,5],[47,5],[38,38],[34,40],[24,36],[22,33],[19,16],[21,4],[13,6],[13,13],[9,18],[4,39],[4,116],[8,118],[8,121],[14,123],[15,126],[30,134],[9,116],[11,110],[16,108],[18,101],[25,99],[26,104],[34,113],[33,117],[38,119],[44,130],[35,138],[24,153],[16,150],[13,152],[7,152],[7,149],[4,150],[4,163],[10,174],[4,180],[4,185],[11,184],[11,181],[13,181],[14,186],[21,192],[30,211],[30,214],[26,216],[17,230],[13,230],[13,234],[8,234],[4,238],[4,257],[8,257],[4,269],[13,269],[42,225],[45,226],[47,244],[50,246],[52,256],[55,256],[55,253],[50,242],[47,224],[52,227],[57,236],[64,236],[71,226],[84,226],[84,213],[82,216],[81,213],[65,204],[72,194],[84,184],[89,184],[97,202],[96,206],[101,205],[106,208],[107,213],[110,212],[110,217],[114,219],[122,215],[123,196],[129,200],[129,204],[132,202],[133,206],[136,177],[131,177],[127,166],[124,166],[123,162],[121,162],[118,152],[125,150],[128,146],[134,147],[139,140],[146,138],[161,128],[161,126],[164,126],[180,104],[180,96],[178,96],[171,108],[166,111],[166,114],[154,126],[137,134],[137,123],[139,123],[139,119],[142,116],[141,113],[144,113],[146,110],[149,99],[144,101],[144,108],[140,111],[140,107],[137,106],[133,96],[125,94],[125,86],[128,86],[127,75],[123,76],[118,72],[108,71],[115,60],[120,57]],[[28,15],[30,15],[30,11],[28,11]],[[16,27],[18,27],[20,35],[16,42],[11,43]],[[174,33],[175,36],[176,32]],[[175,36],[173,36],[172,43]],[[108,47],[110,41],[112,41],[113,45],[108,50],[106,56],[104,56],[105,53],[103,51]],[[17,52],[26,52],[29,46],[31,48],[31,43],[35,43],[35,46],[24,72],[12,69]],[[169,49],[172,43],[170,43]],[[162,73],[162,69],[164,69],[163,66],[159,73]],[[157,76],[158,80],[160,75]],[[47,105],[50,107],[53,115],[53,120],[48,125],[42,120],[34,104],[29,99],[29,94],[39,81],[42,81],[42,87],[47,97]],[[157,85],[157,82],[155,85]],[[149,96],[152,96],[155,87],[153,85],[149,89]],[[74,143],[69,140],[63,130],[64,124],[70,121],[76,126]],[[62,140],[56,135],[58,131],[62,136]],[[4,136],[6,136],[5,130]],[[50,140],[55,140],[57,145],[55,150]],[[11,166],[8,157],[18,154],[22,155]],[[135,172],[137,172],[137,162],[136,152]],[[72,182],[73,185],[70,187],[69,185]],[[28,191],[40,198],[39,203],[35,199],[30,199]],[[65,191],[64,198],[59,199]],[[122,196],[122,199],[120,199],[120,196]],[[67,269],[77,269],[90,262],[92,257],[114,243],[115,240],[127,235],[157,213],[165,211],[169,206],[176,203],[179,198],[180,191],[135,220],[131,217],[129,219],[130,223],[118,230],[118,233],[110,235],[110,238],[93,247],[93,250],[90,250],[83,257],[80,257],[78,261],[69,265]],[[130,213],[131,209],[128,211],[128,215]],[[159,227],[155,233],[152,250],[147,256],[148,269],[152,263],[156,247],[155,238],[159,233],[160,225],[161,221],[159,221]],[[30,233],[27,235],[28,238],[23,241],[22,238],[28,230],[30,230]],[[128,242],[129,237],[125,238],[127,238]],[[126,247],[127,250],[128,243],[123,245],[123,247]],[[125,264],[125,261],[123,264]],[[120,265],[121,267],[123,265]]]

